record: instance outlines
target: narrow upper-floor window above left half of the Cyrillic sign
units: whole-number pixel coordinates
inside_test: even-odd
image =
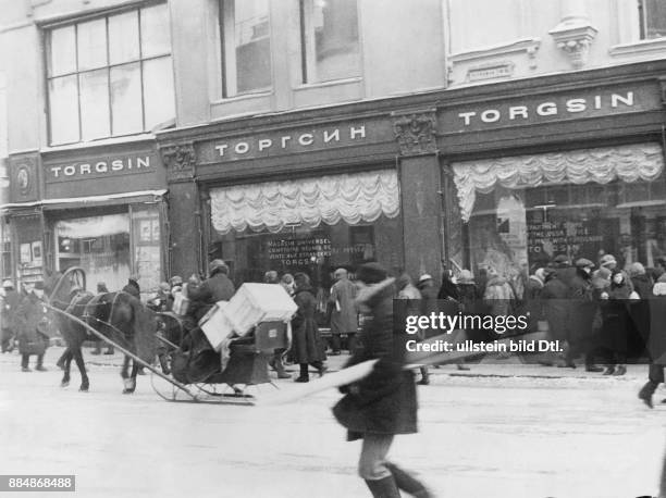
[[[269,0],[221,0],[222,96],[271,88]]]

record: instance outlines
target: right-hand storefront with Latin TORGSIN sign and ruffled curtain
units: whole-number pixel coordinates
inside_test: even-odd
[[[559,254],[620,267],[666,256],[663,71],[498,86],[442,112],[453,264],[510,277]]]

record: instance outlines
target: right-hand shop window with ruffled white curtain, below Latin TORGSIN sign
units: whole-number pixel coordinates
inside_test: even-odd
[[[525,263],[534,271],[559,254],[596,262],[610,253],[620,267],[633,262],[649,267],[666,256],[666,180],[658,145],[483,160],[453,169],[466,222],[466,262],[474,272],[494,267],[516,276]]]

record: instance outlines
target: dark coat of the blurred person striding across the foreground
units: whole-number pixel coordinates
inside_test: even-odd
[[[394,324],[394,294],[393,279],[387,278],[359,296],[370,308],[371,319],[363,323],[360,347],[347,366],[372,359],[379,361],[370,375],[342,389],[347,394],[333,408],[337,421],[347,427],[349,440],[368,433],[417,432],[414,373],[403,370],[408,336]]]

